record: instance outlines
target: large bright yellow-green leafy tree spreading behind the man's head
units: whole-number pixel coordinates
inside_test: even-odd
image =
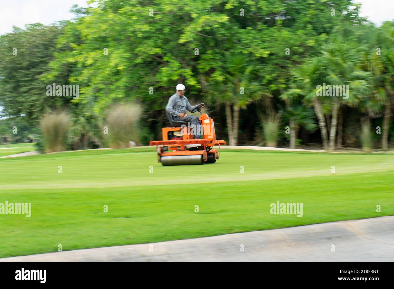
[[[102,114],[113,101],[139,99],[149,107],[148,122],[159,118],[177,83],[199,96],[204,80],[223,67],[223,52],[262,63],[263,83],[273,90],[287,83],[288,67],[318,51],[338,20],[359,20],[350,0],[96,2],[65,27],[58,45],[67,49],[56,54],[48,81],[71,67],[69,81],[81,87],[72,101],[78,109],[91,112],[93,99],[93,112]]]

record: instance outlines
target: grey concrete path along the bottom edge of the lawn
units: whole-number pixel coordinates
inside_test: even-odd
[[[394,216],[0,261],[394,261]]]

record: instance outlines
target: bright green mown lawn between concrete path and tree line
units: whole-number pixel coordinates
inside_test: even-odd
[[[32,203],[30,218],[0,215],[0,257],[393,215],[393,179],[392,154],[223,150],[216,164],[171,167],[151,148],[0,159],[0,203]],[[278,200],[303,203],[303,217],[270,214]]]

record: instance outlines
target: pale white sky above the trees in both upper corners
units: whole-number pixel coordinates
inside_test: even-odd
[[[394,19],[394,0],[353,0],[362,4],[361,16],[378,26]],[[71,19],[72,5],[87,6],[86,0],[0,0],[0,35],[11,32],[12,26],[24,28],[27,23],[44,25]]]

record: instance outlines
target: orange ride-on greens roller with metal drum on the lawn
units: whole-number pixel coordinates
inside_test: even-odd
[[[205,163],[215,163],[219,159],[220,145],[225,145],[224,140],[216,140],[215,125],[208,114],[201,113],[200,103],[191,111],[200,112],[199,121],[202,127],[203,139],[193,139],[193,128],[188,126],[186,121],[174,120],[172,114],[165,112],[170,121],[171,127],[163,127],[163,140],[152,141],[150,145],[156,145],[158,162],[163,166],[177,165],[202,165]],[[219,145],[219,150],[213,149],[214,145]]]

